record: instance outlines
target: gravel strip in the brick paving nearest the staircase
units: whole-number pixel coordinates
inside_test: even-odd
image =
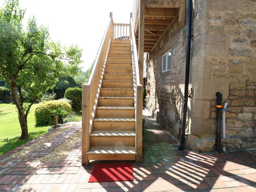
[[[82,130],[79,129],[70,138],[61,143],[52,152],[44,157],[39,157],[35,159],[35,162],[45,162],[45,161],[61,161],[67,154],[72,151],[72,149],[82,140]]]

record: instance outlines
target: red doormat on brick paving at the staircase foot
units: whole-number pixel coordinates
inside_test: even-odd
[[[94,165],[89,182],[133,181],[132,163]]]

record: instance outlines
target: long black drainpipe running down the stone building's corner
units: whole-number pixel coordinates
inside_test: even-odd
[[[187,55],[186,55],[186,71],[185,71],[185,90],[183,102],[183,116],[181,125],[181,138],[179,150],[185,148],[185,129],[187,120],[188,106],[188,83],[189,83],[189,67],[190,67],[190,49],[191,49],[191,26],[192,26],[192,0],[188,0],[188,29],[187,29]]]

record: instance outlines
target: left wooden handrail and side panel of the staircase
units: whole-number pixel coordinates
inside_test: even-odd
[[[111,15],[111,14],[110,14]],[[93,130],[93,119],[100,96],[101,80],[107,60],[110,39],[114,37],[113,19],[109,18],[108,25],[103,35],[98,54],[95,59],[93,69],[87,84],[82,86],[82,163],[88,164],[86,152],[90,148],[90,133]],[[102,74],[103,73],[103,74]]]

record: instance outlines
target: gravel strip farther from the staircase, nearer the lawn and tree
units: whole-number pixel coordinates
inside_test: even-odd
[[[62,128],[58,128],[56,131],[51,133],[50,135],[46,136],[45,138],[42,138],[38,140],[37,142],[31,144],[30,146],[27,146],[23,148],[22,150],[14,153],[11,155],[11,157],[17,158],[17,157],[25,157],[27,154],[33,152],[35,149],[40,147],[42,144],[49,142],[53,138],[55,138],[57,135],[62,133],[63,131],[67,131],[69,128],[73,127],[74,125],[65,125]]]

